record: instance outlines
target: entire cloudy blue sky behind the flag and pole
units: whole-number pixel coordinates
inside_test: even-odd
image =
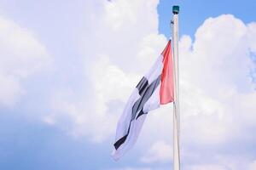
[[[172,105],[115,128],[180,6],[181,167],[256,169],[253,0],[0,0],[0,169],[172,169]]]

